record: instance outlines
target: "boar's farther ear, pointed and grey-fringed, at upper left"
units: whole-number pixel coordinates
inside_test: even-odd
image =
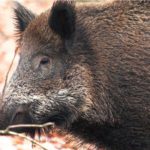
[[[16,28],[19,32],[23,32],[28,24],[35,18],[35,15],[18,2],[15,2],[14,12]]]

